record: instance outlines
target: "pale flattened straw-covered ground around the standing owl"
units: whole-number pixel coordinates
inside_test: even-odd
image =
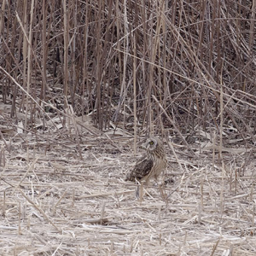
[[[174,182],[162,193],[152,184],[140,203],[124,181],[133,137],[88,127],[83,160],[64,128],[3,135],[1,255],[255,255],[253,149],[223,148],[222,166],[201,148],[203,134],[190,144],[195,155],[174,143],[178,162],[166,143]]]

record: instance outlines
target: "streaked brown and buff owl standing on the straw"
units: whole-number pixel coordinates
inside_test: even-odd
[[[147,150],[147,154],[137,161],[131,173],[126,177],[126,180],[145,181],[147,184],[151,178],[156,181],[162,171],[166,169],[166,153],[163,143],[157,137],[148,137],[146,143],[143,143],[141,148]]]

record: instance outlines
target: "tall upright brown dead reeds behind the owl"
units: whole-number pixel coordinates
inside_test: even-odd
[[[135,135],[219,131],[223,112],[227,130],[255,141],[254,1],[3,0],[1,8],[3,102],[15,117],[21,99],[26,129],[67,105],[94,113],[100,129],[132,123]]]

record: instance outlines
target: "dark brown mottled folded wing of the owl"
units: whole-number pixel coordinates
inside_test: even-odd
[[[150,160],[146,157],[141,158],[137,161],[134,169],[131,171],[130,174],[127,175],[125,180],[135,181],[135,178],[137,178],[137,180],[142,179],[149,174],[149,172],[152,170],[153,165],[153,160]]]

